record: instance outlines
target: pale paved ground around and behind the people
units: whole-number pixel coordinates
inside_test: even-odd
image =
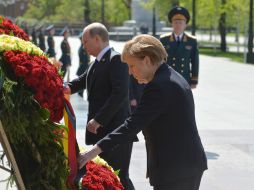
[[[79,41],[72,39],[74,50]],[[123,43],[112,42],[121,51]],[[59,55],[59,52],[58,52]],[[200,83],[193,91],[196,119],[208,157],[201,190],[253,190],[254,187],[254,65],[224,58],[200,56]],[[71,78],[75,78],[77,57],[73,53]],[[78,142],[84,145],[87,102],[71,97],[77,117]],[[130,177],[137,190],[150,190],[145,179],[144,140],[134,144]],[[6,174],[0,170],[0,180]],[[6,183],[0,183],[0,190]]]

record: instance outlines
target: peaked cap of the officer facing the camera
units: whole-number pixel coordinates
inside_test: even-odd
[[[172,8],[168,13],[168,20],[169,22],[172,22],[172,19],[186,19],[186,23],[190,20],[190,14],[189,11],[184,7],[176,6]]]

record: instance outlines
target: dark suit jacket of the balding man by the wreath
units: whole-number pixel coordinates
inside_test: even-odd
[[[94,118],[103,126],[97,134],[86,131],[86,144],[95,144],[112,132],[130,112],[128,66],[121,62],[120,54],[111,59],[111,53],[116,52],[108,50],[98,64],[92,63],[84,74],[69,83],[72,93],[87,89],[88,121]]]

